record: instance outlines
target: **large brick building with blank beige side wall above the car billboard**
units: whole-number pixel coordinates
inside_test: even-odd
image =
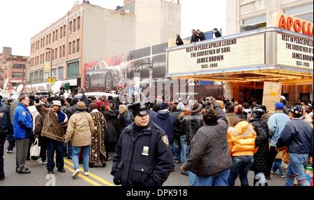
[[[165,43],[180,31],[177,3],[128,0],[109,10],[88,1],[76,2],[66,15],[31,38],[31,85],[27,87],[47,85],[52,73],[76,93],[84,83],[84,63]]]

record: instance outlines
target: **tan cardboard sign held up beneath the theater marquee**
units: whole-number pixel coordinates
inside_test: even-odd
[[[262,105],[266,106],[269,112],[275,112],[275,103],[281,100],[281,89],[283,85],[276,82],[264,82],[264,93]]]

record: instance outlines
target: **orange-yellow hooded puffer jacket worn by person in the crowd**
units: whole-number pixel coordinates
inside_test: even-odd
[[[230,155],[254,155],[256,132],[251,124],[241,121],[227,132]]]

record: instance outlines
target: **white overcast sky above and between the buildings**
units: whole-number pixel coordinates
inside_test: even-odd
[[[91,4],[114,9],[123,0],[89,0]],[[150,1],[150,0],[147,0]],[[170,0],[168,0],[170,1]],[[174,0],[177,2],[177,0]],[[226,0],[181,0],[181,36],[190,29],[225,30]],[[50,26],[73,7],[75,0],[6,0],[0,3],[0,52],[12,47],[13,55],[30,55],[31,37]],[[80,3],[82,0],[80,1]],[[223,34],[224,35],[224,34]]]

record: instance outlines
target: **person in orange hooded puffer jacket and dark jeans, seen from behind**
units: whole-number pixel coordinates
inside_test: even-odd
[[[247,121],[241,121],[234,127],[229,127],[227,138],[232,156],[228,183],[230,186],[234,186],[239,175],[241,186],[248,186],[248,171],[253,164],[256,132]]]

